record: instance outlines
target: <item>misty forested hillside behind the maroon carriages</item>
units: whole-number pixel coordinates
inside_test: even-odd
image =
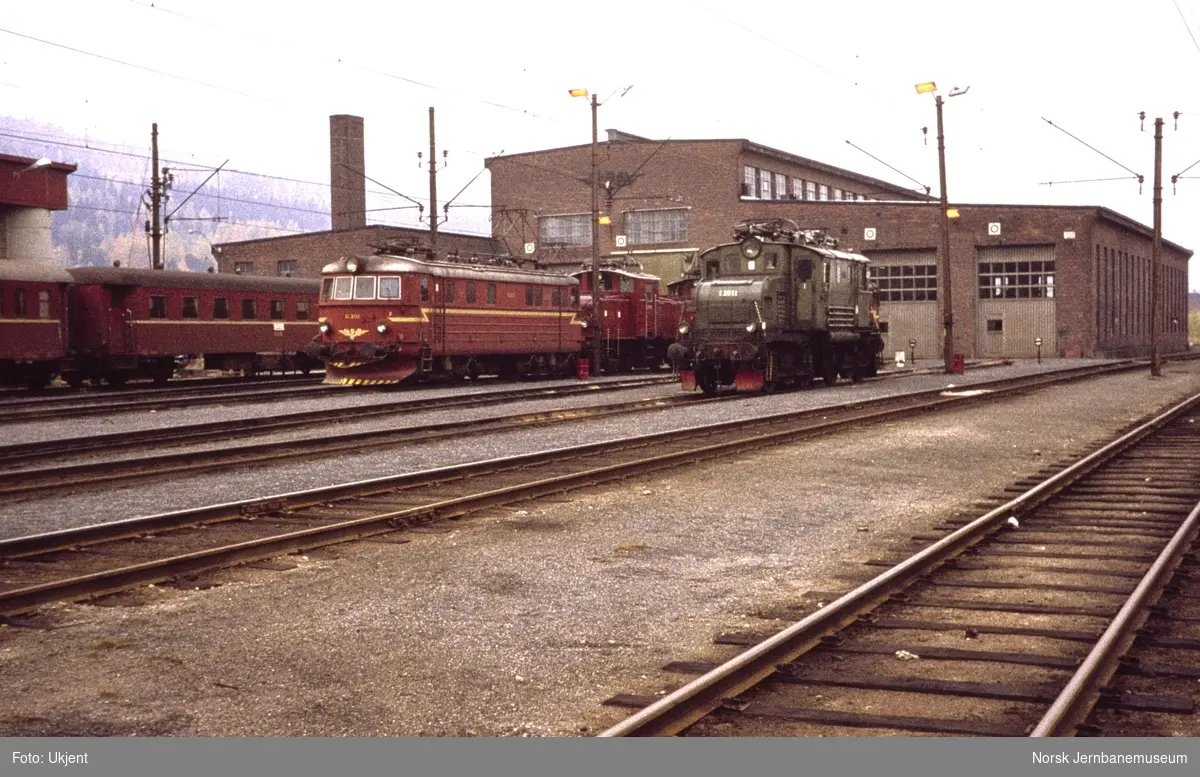
[[[0,152],[78,165],[67,177],[70,207],[53,217],[56,264],[150,266],[149,134],[148,127],[145,147],[139,150],[0,116]],[[182,204],[168,224],[168,269],[206,270],[212,264],[211,243],[329,229],[328,185],[222,170],[184,203],[212,168],[169,158],[161,158],[160,167],[174,176],[163,215]]]

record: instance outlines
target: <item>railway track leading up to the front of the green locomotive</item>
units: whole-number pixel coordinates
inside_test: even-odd
[[[641,378],[602,384],[569,385],[556,389],[518,389],[427,399],[406,399],[356,406],[353,410],[353,420],[361,421],[374,416],[386,416],[390,418],[404,412],[479,408],[518,400],[594,396],[611,391],[662,385],[667,380],[670,379]],[[119,432],[71,440],[11,445],[0,447],[0,465],[8,468],[7,471],[0,472],[0,498],[31,494],[48,489],[98,487],[118,481],[152,480],[192,471],[209,472],[221,466],[241,466],[251,463],[277,462],[347,450],[360,451],[371,446],[396,444],[397,441],[404,444],[430,442],[466,434],[494,433],[506,429],[528,428],[535,424],[653,410],[685,402],[695,402],[697,399],[698,397],[690,394],[672,394],[587,408],[496,416],[479,421],[454,421],[438,424],[329,434],[328,430],[332,424],[347,420],[347,411],[344,409],[335,409],[318,412],[292,412],[262,418],[178,426],[145,432]],[[304,440],[229,445],[216,450],[155,453],[154,456],[125,459],[109,458],[110,454],[119,451],[144,450],[151,445],[168,446],[188,442],[211,442],[215,439],[228,439],[232,435],[248,436],[251,434],[292,432],[307,427],[318,427],[326,430],[326,433],[322,436]],[[79,453],[91,453],[103,456],[104,458],[85,464],[60,464],[41,469],[17,469],[31,462],[59,459],[62,456]]]

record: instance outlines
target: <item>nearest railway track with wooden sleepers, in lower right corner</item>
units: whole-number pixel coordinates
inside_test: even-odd
[[[1200,394],[601,736],[1195,735]]]

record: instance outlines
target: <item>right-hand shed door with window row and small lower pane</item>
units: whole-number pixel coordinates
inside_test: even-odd
[[[976,353],[980,357],[1058,355],[1054,246],[976,249]]]

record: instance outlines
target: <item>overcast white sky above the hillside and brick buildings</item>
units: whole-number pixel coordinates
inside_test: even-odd
[[[1153,119],[1163,116],[1164,236],[1200,251],[1200,165],[1174,194],[1170,182],[1200,159],[1200,0],[2,7],[5,115],[134,151],[157,121],[164,157],[328,181],[329,115],[349,113],[365,119],[367,174],[425,199],[416,152],[428,151],[432,106],[449,151],[443,203],[490,155],[588,143],[587,101],[568,96],[576,86],[607,98],[601,132],[750,138],[911,183],[850,140],[936,194],[934,101],[913,90],[935,80],[947,95],[970,86],[946,104],[952,201],[1104,205],[1151,224]],[[58,158],[73,161],[72,150]],[[1145,176],[1140,194],[1134,174]],[[486,173],[456,201],[488,203]],[[452,209],[444,229],[486,233],[486,210]],[[1200,259],[1192,265],[1198,289]]]

